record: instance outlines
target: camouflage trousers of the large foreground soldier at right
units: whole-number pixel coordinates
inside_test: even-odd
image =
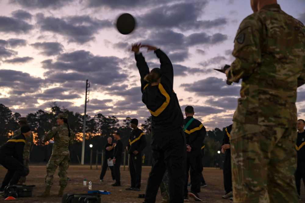
[[[296,129],[234,122],[231,168],[234,202],[299,202],[294,180]]]

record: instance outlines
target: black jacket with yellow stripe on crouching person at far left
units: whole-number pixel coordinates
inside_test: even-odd
[[[23,148],[25,145],[25,137],[23,134],[10,138],[0,147],[1,156],[13,156],[23,165]]]

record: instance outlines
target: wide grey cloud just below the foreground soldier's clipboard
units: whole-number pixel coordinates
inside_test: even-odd
[[[193,83],[183,83],[180,85],[185,91],[194,92],[198,96],[239,96],[240,86],[226,85],[223,79],[208,77]]]

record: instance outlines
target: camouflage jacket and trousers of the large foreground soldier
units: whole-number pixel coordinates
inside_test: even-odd
[[[299,202],[296,90],[305,83],[305,27],[278,4],[239,26],[227,83],[242,87],[231,131],[234,202]]]

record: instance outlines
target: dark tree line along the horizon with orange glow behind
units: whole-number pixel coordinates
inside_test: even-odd
[[[74,145],[70,148],[70,159],[72,164],[78,164],[81,159],[83,128],[84,128],[84,116],[80,113],[70,111],[66,108],[61,108],[56,103],[50,105],[50,111],[38,110],[35,113],[27,114],[27,122],[34,134],[34,147],[30,154],[31,163],[47,162],[52,154],[52,144],[41,142],[41,138],[49,130],[57,126],[55,116],[59,113],[68,114],[68,123],[70,128],[75,134]],[[8,107],[0,104],[0,145],[4,144],[9,138],[12,137],[13,131],[17,130],[18,119],[21,117],[19,113],[12,113]],[[104,116],[102,114],[96,114],[91,117],[86,115],[86,134],[85,134],[85,156],[84,162],[90,162],[90,150],[93,152],[102,152],[104,146],[107,143],[108,136],[113,138],[115,132],[120,132],[123,145],[126,146],[129,142],[129,135],[132,128],[130,127],[131,118],[126,119],[119,123],[119,120],[115,116]],[[142,154],[145,154],[143,165],[152,165],[152,153],[151,135],[148,128],[151,126],[151,117],[148,117],[141,125],[141,130],[145,133],[147,140],[147,146],[143,150]],[[225,133],[225,128],[220,130],[215,128],[212,131],[207,131],[205,138],[205,153],[203,157],[203,163],[205,167],[213,167],[215,162],[221,163],[222,155],[217,151],[221,150],[222,138]],[[113,139],[114,141],[114,139]],[[90,148],[89,145],[93,147]],[[94,161],[95,163],[95,154]],[[101,154],[98,155],[98,162],[101,163]]]

